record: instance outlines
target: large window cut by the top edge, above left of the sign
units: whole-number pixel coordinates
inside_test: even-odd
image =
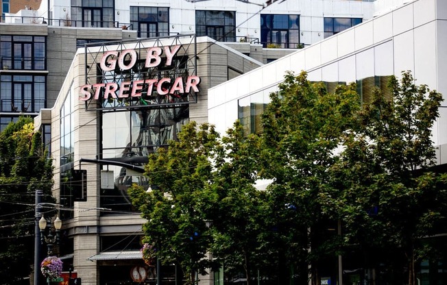
[[[115,27],[113,0],[71,0],[71,25]]]

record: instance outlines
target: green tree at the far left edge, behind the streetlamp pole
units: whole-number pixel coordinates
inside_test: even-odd
[[[0,134],[1,284],[25,284],[31,273],[35,190],[43,190],[43,201],[54,202],[52,177],[51,160],[32,119],[10,123]]]

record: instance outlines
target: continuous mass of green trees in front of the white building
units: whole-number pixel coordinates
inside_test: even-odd
[[[227,281],[317,285],[341,256],[415,284],[416,262],[433,257],[428,237],[445,230],[446,175],[431,140],[442,96],[409,72],[389,88],[392,99],[377,88],[362,103],[355,84],[328,92],[287,73],[262,134],[184,125],[149,156],[152,191],[130,190],[152,255],[179,264],[187,284],[223,266]],[[258,179],[271,183],[258,190]]]

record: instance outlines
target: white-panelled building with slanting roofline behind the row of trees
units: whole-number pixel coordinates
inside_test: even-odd
[[[375,87],[389,92],[385,82],[390,75],[400,77],[401,71],[412,71],[417,84],[447,94],[447,2],[414,0],[391,6],[369,21],[210,88],[208,121],[222,134],[237,119],[247,134],[262,132],[261,115],[269,103],[269,93],[278,90],[286,71],[306,71],[309,80],[326,83],[328,90],[337,84],[356,82],[363,102],[371,99]],[[440,171],[447,163],[446,107],[444,101],[432,129]],[[368,274],[359,271],[358,264],[344,264],[345,272]],[[428,267],[428,262],[420,264],[420,284],[445,284],[446,269],[442,262],[437,265],[435,269]]]

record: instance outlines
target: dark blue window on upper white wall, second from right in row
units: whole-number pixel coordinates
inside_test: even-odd
[[[262,14],[261,43],[263,47],[300,47],[300,15]]]

